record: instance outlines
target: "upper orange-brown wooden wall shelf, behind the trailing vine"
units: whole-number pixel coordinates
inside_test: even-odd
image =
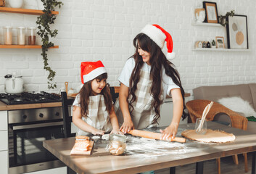
[[[16,9],[16,8],[9,8],[9,7],[0,7],[0,12],[33,14],[33,15],[44,14],[43,10],[39,10],[39,9]],[[59,12],[51,11],[51,14],[59,14]]]

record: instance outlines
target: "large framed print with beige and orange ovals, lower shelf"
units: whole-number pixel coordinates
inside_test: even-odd
[[[247,16],[234,14],[227,22],[228,49],[249,49]]]

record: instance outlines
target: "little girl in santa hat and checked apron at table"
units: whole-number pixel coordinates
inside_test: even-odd
[[[73,103],[73,123],[77,136],[119,133],[117,116],[112,104],[107,71],[101,61],[82,62],[80,74],[83,87]]]

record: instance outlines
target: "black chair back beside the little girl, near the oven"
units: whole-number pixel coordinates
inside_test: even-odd
[[[75,133],[71,133],[72,115],[68,109],[72,106],[74,100],[74,98],[67,98],[67,93],[62,92],[62,115],[65,138],[75,136]]]

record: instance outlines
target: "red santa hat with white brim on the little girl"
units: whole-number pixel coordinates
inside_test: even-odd
[[[107,72],[102,62],[82,62],[81,63],[81,81],[86,83]]]

